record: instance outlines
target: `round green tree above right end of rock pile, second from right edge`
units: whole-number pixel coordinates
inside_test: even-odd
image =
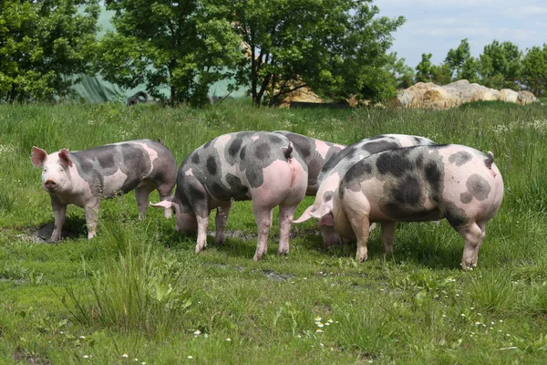
[[[510,79],[522,76],[521,50],[511,42],[494,40],[480,55],[480,75],[482,82],[491,88],[514,88]]]

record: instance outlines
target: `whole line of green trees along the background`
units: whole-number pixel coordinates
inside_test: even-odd
[[[405,18],[379,16],[373,0],[102,3],[114,12],[115,31],[98,38],[98,0],[0,1],[0,100],[70,98],[82,74],[122,88],[146,85],[157,98],[167,86],[170,103],[192,106],[207,102],[212,83],[230,79],[259,106],[304,87],[325,99],[377,101],[408,79],[498,82],[547,72],[545,47],[522,57],[518,47],[494,41],[474,59],[467,39],[442,65],[424,54],[415,72],[387,53]]]

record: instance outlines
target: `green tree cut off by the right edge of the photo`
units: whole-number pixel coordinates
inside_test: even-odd
[[[536,96],[547,90],[547,45],[528,49],[522,58],[522,82]]]

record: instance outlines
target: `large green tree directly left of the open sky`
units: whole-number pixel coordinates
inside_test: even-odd
[[[221,0],[219,0],[221,1]],[[372,0],[231,0],[226,16],[248,57],[238,81],[251,86],[255,105],[309,86],[332,99],[377,97],[375,73],[387,64],[392,36],[404,23],[377,17]]]

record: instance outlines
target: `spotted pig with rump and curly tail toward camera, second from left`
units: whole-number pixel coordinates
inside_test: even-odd
[[[207,224],[212,209],[215,242],[224,242],[224,227],[232,201],[251,200],[258,226],[253,259],[267,251],[272,210],[279,205],[279,255],[289,252],[294,210],[307,189],[307,166],[293,143],[281,134],[241,131],[223,134],[192,151],[181,163],[177,188],[169,200],[152,204],[175,210],[177,231],[197,230],[195,252],[207,245]]]

